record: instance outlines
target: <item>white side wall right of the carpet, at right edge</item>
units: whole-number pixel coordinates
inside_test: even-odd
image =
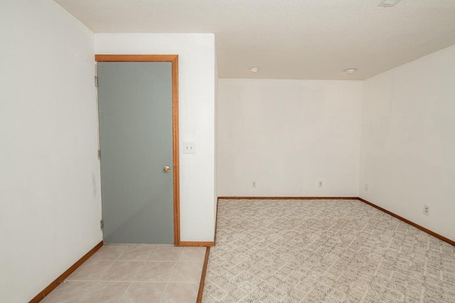
[[[365,80],[360,158],[360,197],[451,240],[454,70],[455,45]]]

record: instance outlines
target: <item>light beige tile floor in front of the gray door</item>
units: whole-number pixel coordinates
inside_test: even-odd
[[[105,245],[41,302],[194,303],[205,250]]]

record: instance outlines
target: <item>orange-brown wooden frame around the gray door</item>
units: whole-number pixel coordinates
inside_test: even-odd
[[[180,179],[178,170],[178,55],[95,55],[96,62],[172,63],[173,241],[180,246]]]

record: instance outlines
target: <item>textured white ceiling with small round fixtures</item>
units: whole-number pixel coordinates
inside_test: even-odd
[[[215,33],[220,78],[366,79],[455,44],[455,0],[55,1],[95,33]]]

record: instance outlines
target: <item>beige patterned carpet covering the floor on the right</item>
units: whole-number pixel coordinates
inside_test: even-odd
[[[220,200],[202,302],[455,302],[455,247],[357,200]]]

